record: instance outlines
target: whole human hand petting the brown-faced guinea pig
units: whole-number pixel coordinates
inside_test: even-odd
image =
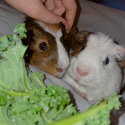
[[[69,32],[75,18],[75,0],[5,0],[26,15],[50,24],[62,22]],[[62,14],[66,11],[65,18]]]

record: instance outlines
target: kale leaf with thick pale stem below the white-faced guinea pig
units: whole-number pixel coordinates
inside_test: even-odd
[[[120,107],[120,96],[113,93],[91,106],[87,111],[49,125],[110,125],[110,111]]]

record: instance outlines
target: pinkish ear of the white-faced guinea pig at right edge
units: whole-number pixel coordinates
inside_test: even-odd
[[[117,48],[117,58],[119,59],[118,65],[121,68],[125,67],[125,48],[120,46]]]

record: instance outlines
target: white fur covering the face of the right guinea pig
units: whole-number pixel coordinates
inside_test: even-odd
[[[103,33],[91,34],[86,48],[71,58],[63,80],[75,90],[83,93],[88,101],[99,100],[112,92],[118,93],[122,81],[121,70],[115,61],[118,48],[120,46]],[[106,57],[110,60],[108,65],[103,64]],[[80,76],[76,67],[80,67],[80,70],[89,74],[85,77]],[[80,80],[76,81],[76,77]]]

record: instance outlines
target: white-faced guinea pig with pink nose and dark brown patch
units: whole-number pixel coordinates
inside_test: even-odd
[[[71,44],[70,65],[63,80],[89,102],[119,93],[123,85],[117,61],[124,59],[125,48],[101,32],[78,32]]]

